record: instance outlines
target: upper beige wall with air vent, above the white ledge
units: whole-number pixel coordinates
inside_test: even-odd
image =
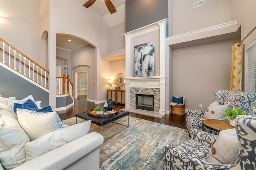
[[[205,0],[204,5],[193,8],[195,0],[172,1],[173,34],[178,35],[231,21],[232,1]],[[170,7],[170,5],[169,5]],[[169,15],[170,16],[170,15]]]

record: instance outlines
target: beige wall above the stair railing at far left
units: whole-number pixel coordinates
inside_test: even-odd
[[[39,0],[1,0],[0,37],[46,67],[46,40],[41,40]]]

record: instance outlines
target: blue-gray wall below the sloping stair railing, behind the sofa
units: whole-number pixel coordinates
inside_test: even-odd
[[[49,93],[12,71],[0,66],[0,94],[2,97],[24,99],[32,95],[35,101],[42,101],[41,107],[49,106]]]

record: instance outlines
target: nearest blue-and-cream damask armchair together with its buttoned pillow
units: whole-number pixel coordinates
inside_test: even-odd
[[[239,115],[235,128],[218,136],[197,129],[191,136],[178,146],[164,146],[165,170],[256,169],[256,116]]]

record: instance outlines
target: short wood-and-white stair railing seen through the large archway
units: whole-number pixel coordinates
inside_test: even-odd
[[[56,77],[56,95],[65,95],[69,94],[74,96],[74,86],[69,79],[69,75],[66,77],[65,74],[63,77]]]

